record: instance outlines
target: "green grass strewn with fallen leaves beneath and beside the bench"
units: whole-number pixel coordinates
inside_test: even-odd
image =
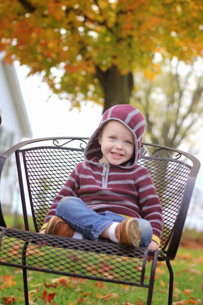
[[[201,246],[180,247],[175,261],[172,262],[174,305],[203,303],[202,249]],[[158,262],[155,277],[152,303],[167,304],[168,270],[164,262]],[[144,305],[148,292],[145,288],[35,271],[28,271],[28,284],[30,305]],[[23,296],[22,270],[0,266],[0,305],[24,304]]]

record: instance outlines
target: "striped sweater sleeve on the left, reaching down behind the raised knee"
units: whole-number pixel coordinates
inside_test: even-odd
[[[70,174],[70,177],[66,181],[65,185],[62,187],[58,195],[55,197],[53,200],[52,206],[50,207],[46,217],[45,217],[45,222],[43,226],[41,227],[40,231],[45,229],[49,219],[56,214],[56,207],[59,203],[59,201],[66,196],[74,196],[78,197],[77,191],[79,189],[79,173],[77,166],[76,168],[72,171]]]

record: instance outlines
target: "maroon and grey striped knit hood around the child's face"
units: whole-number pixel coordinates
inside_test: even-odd
[[[140,111],[132,105],[116,105],[105,111],[99,126],[94,131],[93,135],[91,135],[87,143],[84,150],[84,160],[94,165],[98,165],[98,162],[95,162],[96,159],[94,158],[96,157],[97,160],[99,160],[103,156],[101,146],[98,142],[98,131],[105,123],[111,120],[116,120],[123,123],[134,136],[134,156],[128,162],[122,163],[118,166],[120,168],[130,169],[137,164],[137,161],[140,158],[140,147],[145,128],[144,117]]]

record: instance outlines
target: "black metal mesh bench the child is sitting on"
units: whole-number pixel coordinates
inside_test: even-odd
[[[144,287],[148,289],[146,304],[150,305],[157,261],[165,261],[169,270],[168,304],[171,305],[173,269],[170,260],[176,256],[200,162],[177,149],[142,145],[139,164],[149,170],[163,210],[161,245],[156,251],[106,241],[39,235],[37,232],[54,197],[76,164],[84,160],[87,141],[88,138],[65,137],[34,139],[16,144],[0,156],[1,174],[5,161],[15,154],[25,225],[25,231],[7,228],[0,206],[0,265],[23,269],[26,305],[29,304],[27,270]],[[29,207],[36,232],[29,231]],[[39,240],[46,243],[40,250]],[[16,243],[19,250],[12,251]],[[43,257],[39,251],[43,252]],[[145,277],[148,255],[154,256],[149,279]]]

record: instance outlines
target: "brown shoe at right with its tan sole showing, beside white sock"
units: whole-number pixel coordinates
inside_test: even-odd
[[[139,228],[136,218],[128,218],[121,221],[117,225],[115,233],[120,244],[134,247],[140,245],[142,230]]]

